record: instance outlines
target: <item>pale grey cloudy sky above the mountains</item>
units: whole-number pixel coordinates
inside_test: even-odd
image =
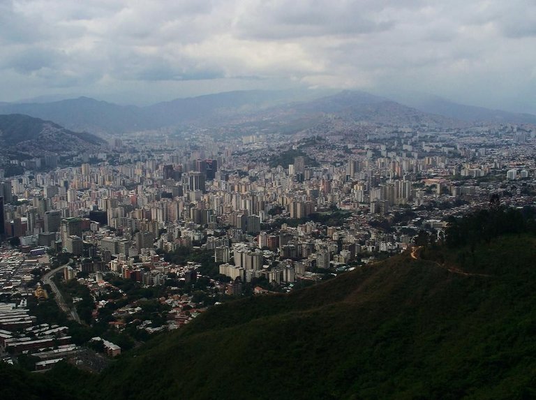
[[[533,0],[0,0],[0,101],[421,91],[536,113]]]

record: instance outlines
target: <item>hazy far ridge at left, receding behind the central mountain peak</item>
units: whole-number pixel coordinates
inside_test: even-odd
[[[214,121],[295,100],[290,91],[229,91],[138,107],[79,97],[50,103],[0,103],[0,114],[27,114],[74,131],[128,133]]]

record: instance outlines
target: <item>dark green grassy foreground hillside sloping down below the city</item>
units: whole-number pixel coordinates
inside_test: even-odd
[[[291,295],[216,307],[126,357],[104,399],[535,396],[535,238],[477,248],[463,276],[401,255]],[[435,251],[455,262],[459,252]],[[427,257],[431,257],[431,253]]]

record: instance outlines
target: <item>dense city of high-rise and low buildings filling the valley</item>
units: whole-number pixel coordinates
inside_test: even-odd
[[[251,123],[109,138],[2,170],[0,341],[30,370],[111,357],[208,307],[442,242],[449,218],[535,203],[536,128]]]

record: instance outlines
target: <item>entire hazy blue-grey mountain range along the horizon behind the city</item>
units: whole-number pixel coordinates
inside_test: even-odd
[[[0,103],[1,114],[28,114],[54,121],[73,131],[96,134],[128,133],[171,126],[215,125],[240,121],[317,121],[336,114],[375,124],[456,124],[456,121],[535,124],[536,116],[452,103],[431,96],[406,96],[396,102],[362,91],[330,96],[292,91],[232,91],[179,98],[145,107],[117,105],[80,97],[36,103]],[[317,96],[317,98],[314,98]]]

